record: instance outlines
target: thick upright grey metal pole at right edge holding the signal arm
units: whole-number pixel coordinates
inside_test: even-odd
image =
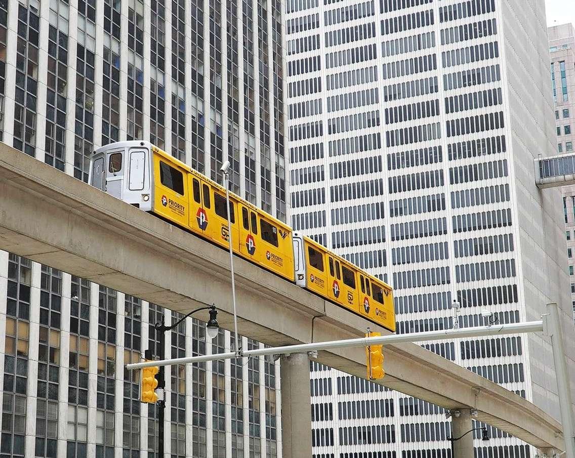
[[[561,321],[559,320],[559,309],[557,304],[547,304],[547,313],[549,313],[547,334],[551,336],[551,347],[553,347],[553,360],[555,362],[557,391],[559,394],[559,409],[561,410],[563,439],[565,439],[565,453],[566,458],[575,458],[573,405],[571,403],[567,364],[565,363],[565,349],[563,348]],[[573,324],[571,323],[570,325]]]

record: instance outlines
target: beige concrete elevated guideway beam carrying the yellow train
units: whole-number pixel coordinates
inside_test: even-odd
[[[0,249],[182,313],[216,303],[220,325],[233,329],[227,251],[3,143]],[[236,257],[235,268],[244,336],[275,346],[379,330],[245,260]],[[363,348],[320,352],[317,360],[365,378]],[[447,409],[477,409],[479,420],[539,449],[565,449],[554,418],[419,345],[386,345],[385,370],[386,387]]]

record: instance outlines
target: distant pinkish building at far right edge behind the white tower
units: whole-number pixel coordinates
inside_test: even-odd
[[[575,29],[573,24],[555,25],[549,28],[549,51],[551,53],[551,84],[555,102],[555,128],[557,129],[557,152],[573,153],[575,145]],[[575,309],[575,186],[565,186],[563,213],[565,237],[569,259],[571,299]]]

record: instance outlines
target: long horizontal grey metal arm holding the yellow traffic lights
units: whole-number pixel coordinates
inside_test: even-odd
[[[359,337],[346,340],[333,340],[327,342],[312,342],[311,344],[286,345],[285,347],[269,347],[247,350],[242,356],[290,355],[291,353],[305,353],[309,351],[327,350],[332,348],[367,347],[368,345],[401,344],[405,342],[423,342],[429,340],[444,340],[448,338],[481,337],[501,334],[524,334],[529,332],[542,332],[543,321],[530,321],[525,323],[505,324],[499,326],[477,326],[476,328],[444,329],[440,331],[418,332],[413,334],[389,334],[380,337]],[[216,353],[215,355],[188,356],[183,358],[167,359],[163,361],[146,361],[144,363],[127,364],[128,370],[140,369],[155,365],[190,364],[203,361],[215,361],[236,358],[235,352]],[[570,457],[575,458],[575,456]]]

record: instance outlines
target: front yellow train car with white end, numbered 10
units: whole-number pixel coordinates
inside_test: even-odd
[[[145,141],[99,148],[90,184],[228,248],[225,188]],[[233,251],[294,282],[292,229],[230,193]]]

